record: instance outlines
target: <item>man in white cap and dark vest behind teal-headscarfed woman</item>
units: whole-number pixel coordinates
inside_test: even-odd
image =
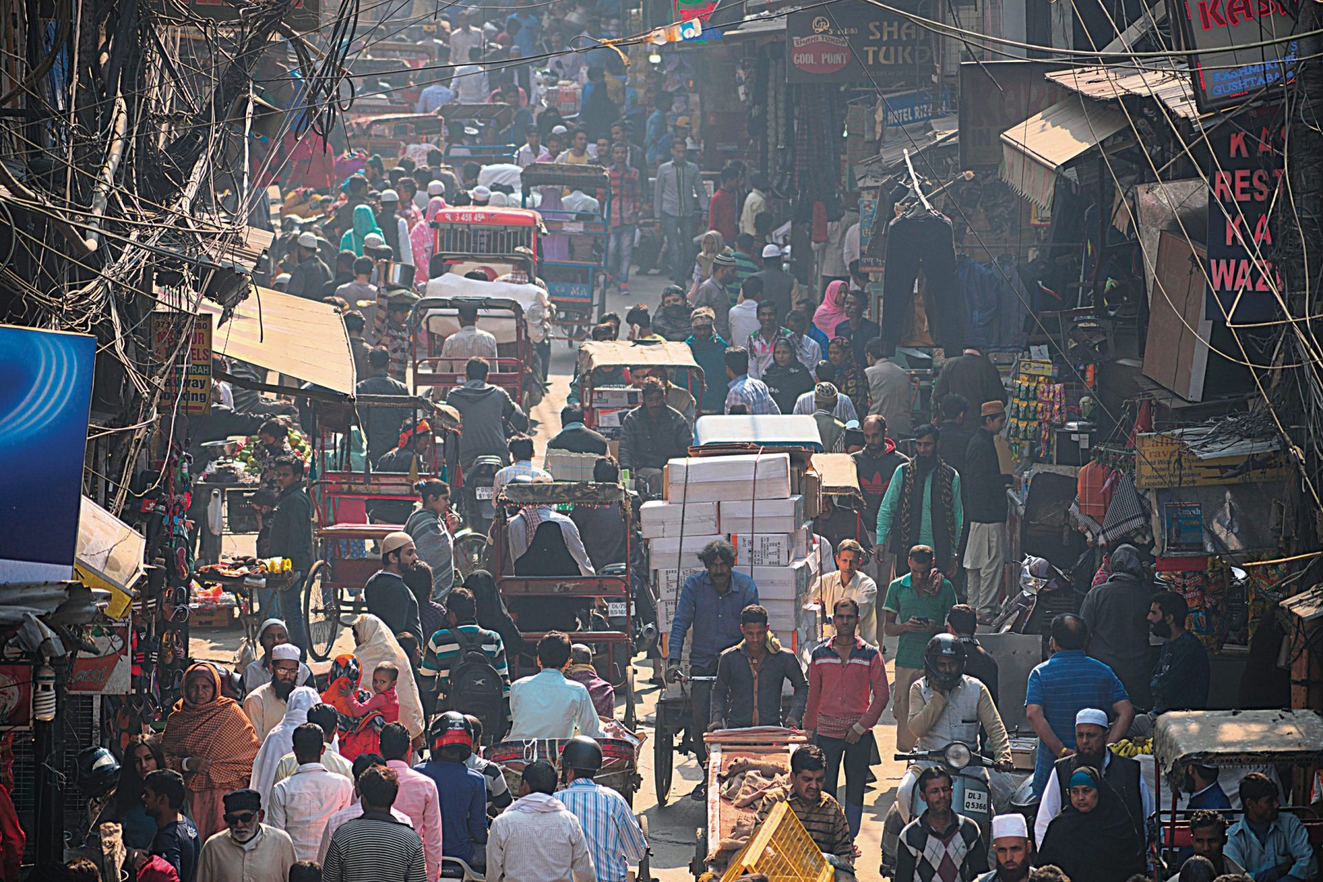
[[[1154,797],[1139,774],[1139,762],[1107,750],[1107,714],[1097,707],[1085,707],[1076,714],[1076,748],[1058,759],[1043,788],[1039,816],[1033,821],[1035,841],[1041,842],[1061,807],[1070,801],[1069,782],[1074,770],[1088,766],[1102,770],[1102,778],[1125,804],[1135,830],[1147,836],[1147,820],[1154,813]]]

